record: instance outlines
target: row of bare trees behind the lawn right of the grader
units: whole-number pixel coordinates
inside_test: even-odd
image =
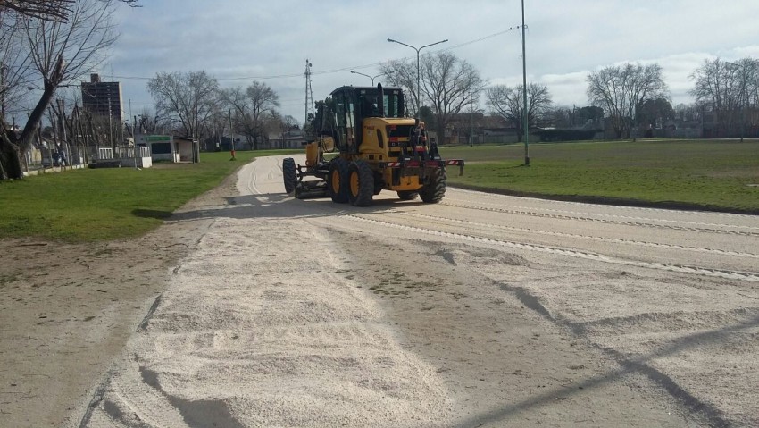
[[[480,112],[480,97],[485,97],[488,113],[495,115],[523,135],[523,86],[491,85],[481,79],[471,64],[442,51],[421,56],[420,86],[416,87],[413,60],[390,61],[380,65],[386,79],[412,94],[410,105],[425,122],[433,124],[444,138],[455,116]],[[753,114],[759,103],[759,61],[742,58],[735,63],[720,58],[705,60],[690,76],[696,98],[691,105],[671,105],[670,91],[658,63],[624,63],[591,71],[586,77],[588,105],[580,108],[554,105],[545,84],[527,85],[527,123],[538,127],[613,130],[616,138],[650,135],[654,128],[680,119],[704,122],[713,113],[709,126],[713,136],[756,134]],[[416,94],[419,94],[417,97]]]

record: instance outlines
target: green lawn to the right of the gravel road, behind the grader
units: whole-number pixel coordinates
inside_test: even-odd
[[[466,161],[448,182],[470,189],[759,214],[759,141],[638,140],[442,147]]]

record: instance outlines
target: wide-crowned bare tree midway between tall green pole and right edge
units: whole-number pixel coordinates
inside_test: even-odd
[[[587,92],[590,103],[611,118],[617,138],[630,138],[638,107],[649,99],[667,98],[668,88],[659,64],[626,63],[588,74]]]

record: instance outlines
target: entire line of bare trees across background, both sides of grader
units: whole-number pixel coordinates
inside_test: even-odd
[[[55,100],[59,88],[77,85],[104,61],[117,39],[113,8],[120,2],[139,5],[137,0],[0,1],[0,180],[23,176],[21,158],[39,137],[45,115],[52,132],[82,148],[92,143],[88,136],[96,146],[115,148],[115,141],[129,132],[171,131],[198,138],[205,148],[220,147],[222,136],[238,135],[244,139],[241,146],[256,149],[272,132],[298,128],[295,118],[279,113],[273,88],[259,81],[220,88],[205,71],[157,73],[147,83],[154,112],[130,118],[131,130],[125,123],[103,123],[82,109],[76,97],[68,108]],[[513,127],[519,138],[525,116],[529,128],[608,127],[617,138],[636,138],[638,130],[662,127],[676,117],[705,123],[708,114],[713,136],[755,135],[759,122],[759,61],[750,57],[733,63],[705,60],[691,75],[692,105],[672,107],[659,64],[624,63],[588,73],[588,105],[580,108],[555,105],[545,84],[530,82],[526,112],[521,85],[488,85],[471,63],[448,51],[421,55],[420,60],[419,75],[411,59],[382,63],[380,71],[389,85],[405,89],[409,112],[443,141],[462,114],[482,113],[483,96],[488,113]],[[32,90],[39,98],[28,112],[21,100]],[[17,116],[25,122],[20,130]],[[104,130],[111,135],[106,138]]]

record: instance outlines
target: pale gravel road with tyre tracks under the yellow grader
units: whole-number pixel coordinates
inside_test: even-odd
[[[297,160],[303,161],[298,158]],[[759,220],[238,172],[72,426],[759,426]]]

